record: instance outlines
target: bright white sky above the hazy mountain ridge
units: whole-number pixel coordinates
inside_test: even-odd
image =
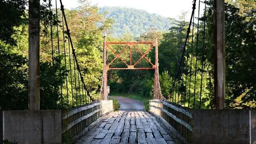
[[[59,0],[57,0],[59,1]],[[186,20],[190,20],[192,0],[90,0],[98,7],[133,7],[149,13],[157,13],[164,17],[178,18],[182,12],[188,12]],[[197,0],[198,1],[198,0]],[[64,7],[79,7],[77,0],[62,0]],[[57,4],[59,5],[59,4]],[[55,5],[54,5],[55,6]],[[202,9],[202,5],[201,8]],[[197,15],[197,13],[195,13]]]

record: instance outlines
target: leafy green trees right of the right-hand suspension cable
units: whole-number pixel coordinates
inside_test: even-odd
[[[214,108],[213,105],[213,0],[207,2],[205,48],[203,48],[203,20],[200,26],[194,27],[194,45],[190,45],[192,55],[185,56],[184,72],[181,72],[175,90],[187,94],[183,99],[188,106],[188,97],[195,99],[195,108],[199,108],[202,97],[202,108]],[[256,47],[256,2],[250,0],[226,0],[225,2],[225,49],[226,49],[226,108],[255,108],[255,47]],[[197,30],[199,33],[197,34]],[[197,44],[197,37],[199,38]],[[191,35],[189,41],[191,42]],[[196,49],[198,48],[198,53]],[[202,52],[204,53],[202,55]],[[181,52],[180,52],[181,53]],[[196,57],[197,53],[197,57]],[[180,58],[179,58],[180,59]],[[197,59],[197,71],[195,71]],[[203,66],[202,66],[203,60]],[[173,60],[172,60],[173,61]],[[191,62],[191,65],[190,65]],[[176,65],[177,66],[177,65]],[[202,69],[203,68],[203,69]],[[191,72],[190,72],[191,69]],[[203,71],[202,82],[201,72]],[[197,77],[195,79],[195,72]],[[190,83],[184,83],[191,73]],[[190,79],[188,79],[190,81]],[[196,80],[196,82],[195,82]],[[182,84],[183,83],[183,84]],[[202,88],[201,88],[202,84]],[[189,85],[189,86],[188,86]],[[186,86],[186,89],[184,89]],[[195,87],[195,88],[194,88]],[[202,91],[201,91],[202,89]],[[177,92],[177,93],[178,93]],[[175,93],[177,96],[178,94]],[[183,94],[184,94],[183,93]],[[200,95],[202,93],[202,95]],[[173,93],[172,93],[173,94]],[[177,98],[177,97],[175,97]],[[190,105],[193,108],[193,105]]]

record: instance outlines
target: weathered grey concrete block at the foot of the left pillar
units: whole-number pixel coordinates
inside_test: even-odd
[[[1,111],[0,139],[19,144],[61,144],[61,111]]]

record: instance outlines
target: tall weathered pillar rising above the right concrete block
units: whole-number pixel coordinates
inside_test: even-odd
[[[214,0],[214,103],[224,108],[225,98],[225,11],[224,0]]]

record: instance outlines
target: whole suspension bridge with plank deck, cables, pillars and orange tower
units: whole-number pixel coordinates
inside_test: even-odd
[[[200,4],[204,2],[203,7],[206,8],[206,1],[193,0],[190,23],[176,76],[170,81],[172,88],[169,96],[163,96],[161,93],[158,39],[150,42],[108,42],[104,37],[102,84],[98,98],[93,98],[85,85],[85,72],[80,66],[82,64],[72,42],[72,29],[69,29],[64,5],[60,0],[61,14],[58,14],[56,0],[56,10],[53,13],[56,13],[56,19],[62,26],[54,27],[51,22],[50,39],[52,65],[65,65],[59,65],[59,73],[64,73],[65,79],[64,85],[59,87],[61,110],[39,110],[39,35],[34,35],[29,38],[33,50],[29,59],[34,60],[29,63],[29,110],[1,111],[0,139],[16,140],[19,144],[61,144],[64,141],[72,144],[256,144],[256,111],[222,110],[225,96],[224,0],[214,0],[213,7],[214,106],[212,110],[203,109],[202,95],[205,92],[202,92],[202,87],[206,85],[203,84],[203,76],[208,74],[204,71],[204,53],[206,40],[209,39],[205,37],[205,12],[202,20],[199,19],[199,14]],[[49,5],[50,11],[53,11],[51,4]],[[30,28],[39,25],[37,18],[30,19]],[[57,29],[57,55],[53,50],[53,28]],[[199,28],[203,30],[203,34],[199,34]],[[38,33],[33,28],[29,31]],[[62,34],[59,31],[62,31]],[[203,46],[198,46],[199,40],[203,41]],[[120,48],[118,52],[113,48],[116,45]],[[142,52],[138,45],[146,45],[148,49]],[[131,49],[141,55],[135,62]],[[122,57],[126,50],[129,50],[128,62]],[[107,51],[114,55],[111,61],[107,61]],[[147,57],[150,51],[155,53],[154,62]],[[56,60],[56,57],[61,55],[64,55],[64,59]],[[117,59],[125,66],[113,67],[112,63]],[[141,59],[145,59],[150,66],[138,65]],[[195,67],[192,66],[193,59]],[[111,70],[155,71],[153,99],[150,100],[149,112],[141,109],[113,111],[113,102],[108,98],[107,83],[107,74]],[[208,83],[211,82],[210,80]],[[196,91],[197,83],[200,85],[200,92]],[[128,105],[133,103],[135,102],[131,100]]]

